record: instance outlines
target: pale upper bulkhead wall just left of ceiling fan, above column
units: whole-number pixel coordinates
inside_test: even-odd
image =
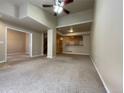
[[[57,26],[57,18],[55,16],[31,3],[27,4],[27,16],[48,28],[55,29]]]

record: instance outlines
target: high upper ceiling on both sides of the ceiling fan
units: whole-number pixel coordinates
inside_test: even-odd
[[[43,8],[42,4],[54,4],[54,0],[3,0],[3,1],[8,1],[17,6],[26,2],[31,2],[41,8]],[[71,13],[76,13],[79,11],[91,9],[93,8],[93,6],[94,6],[94,0],[74,0],[73,3],[66,5],[65,8],[68,9]],[[53,14],[52,8],[43,8],[43,9]]]

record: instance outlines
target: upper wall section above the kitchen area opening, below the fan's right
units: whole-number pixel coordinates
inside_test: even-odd
[[[67,16],[60,16],[58,18],[58,27],[63,27],[67,25],[80,24],[85,22],[91,22],[93,20],[93,10],[89,9],[86,11],[81,11],[74,14],[69,14]]]

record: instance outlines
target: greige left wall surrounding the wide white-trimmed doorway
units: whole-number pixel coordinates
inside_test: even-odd
[[[43,53],[43,47],[42,47],[42,32],[38,32],[38,31],[33,31],[33,30],[29,30],[27,28],[22,28],[20,26],[17,25],[10,25],[7,22],[1,22],[0,21],[0,42],[2,41],[2,44],[0,43],[0,62],[5,62],[5,55],[6,55],[6,51],[5,51],[5,43],[6,43],[6,27],[9,26],[11,28],[14,29],[18,29],[21,31],[26,31],[26,32],[30,32],[32,33],[32,56],[36,57],[36,56],[41,56]]]

